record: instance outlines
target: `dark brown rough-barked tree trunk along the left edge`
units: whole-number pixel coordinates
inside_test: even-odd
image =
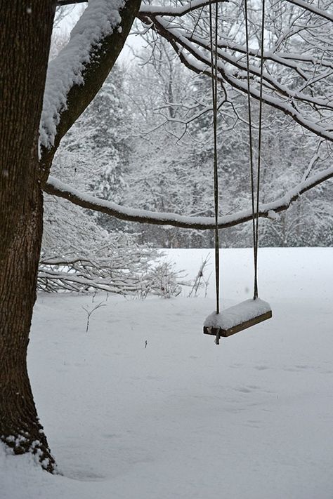
[[[38,158],[55,1],[0,0],[0,438],[54,470],[27,374],[43,226]]]

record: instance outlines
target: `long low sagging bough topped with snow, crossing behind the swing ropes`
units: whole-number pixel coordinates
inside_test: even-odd
[[[290,189],[286,194],[270,203],[261,204],[259,206],[259,216],[262,218],[271,218],[274,213],[280,213],[287,210],[289,206],[298,199],[301,194],[304,194],[316,185],[319,185],[325,180],[333,178],[333,167],[327,168],[307,178],[293,189]],[[182,227],[185,229],[214,229],[215,222],[213,218],[207,217],[191,217],[179,215],[178,213],[155,213],[153,211],[141,210],[137,208],[126,208],[111,201],[105,201],[98,197],[90,196],[73,189],[70,185],[66,185],[59,180],[49,177],[48,182],[44,187],[48,194],[63,197],[83,208],[89,208],[94,211],[106,213],[120,220],[128,220],[131,222],[148,223],[155,225],[172,225],[174,227]],[[218,218],[218,227],[226,229],[244,222],[252,220],[252,211],[244,210],[232,215],[223,215]]]

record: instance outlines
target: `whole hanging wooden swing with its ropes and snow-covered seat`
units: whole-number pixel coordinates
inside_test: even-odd
[[[220,338],[227,338],[235,333],[243,331],[266,321],[272,317],[272,310],[268,302],[258,298],[258,241],[259,241],[259,187],[260,187],[260,161],[261,161],[261,124],[262,124],[262,88],[263,88],[263,34],[264,34],[264,11],[263,0],[262,25],[261,25],[261,75],[260,75],[260,98],[259,98],[259,137],[258,137],[258,166],[256,185],[256,208],[254,203],[254,161],[252,147],[252,117],[249,79],[249,32],[247,18],[247,0],[244,1],[246,48],[247,48],[247,95],[249,111],[249,149],[250,149],[250,171],[252,187],[252,229],[254,248],[254,297],[245,300],[233,307],[229,307],[220,313],[219,310],[219,242],[218,242],[218,164],[217,164],[217,25],[218,6],[215,6],[215,51],[213,55],[213,28],[212,28],[212,0],[209,1],[209,28],[211,38],[211,93],[213,100],[213,128],[214,128],[214,208],[215,208],[215,279],[216,279],[216,311],[210,314],[204,321],[204,334],[214,335],[216,345]]]

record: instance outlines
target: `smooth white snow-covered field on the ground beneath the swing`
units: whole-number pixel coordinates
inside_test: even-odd
[[[209,250],[168,253],[194,277]],[[223,306],[251,298],[252,251],[221,261]],[[0,498],[332,499],[333,248],[260,250],[259,295],[273,319],[219,347],[213,275],[207,298],[109,297],[88,333],[104,295],[39,295],[29,369],[62,476],[1,447]]]

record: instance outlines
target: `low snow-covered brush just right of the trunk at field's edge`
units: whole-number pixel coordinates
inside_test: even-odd
[[[38,290],[47,293],[105,291],[140,298],[148,294],[170,298],[181,292],[181,285],[188,284],[171,262],[157,262],[162,255],[152,248],[137,251],[133,247],[124,251],[120,247],[118,254],[102,253],[90,255],[90,258],[78,253],[63,257],[42,255]]]

